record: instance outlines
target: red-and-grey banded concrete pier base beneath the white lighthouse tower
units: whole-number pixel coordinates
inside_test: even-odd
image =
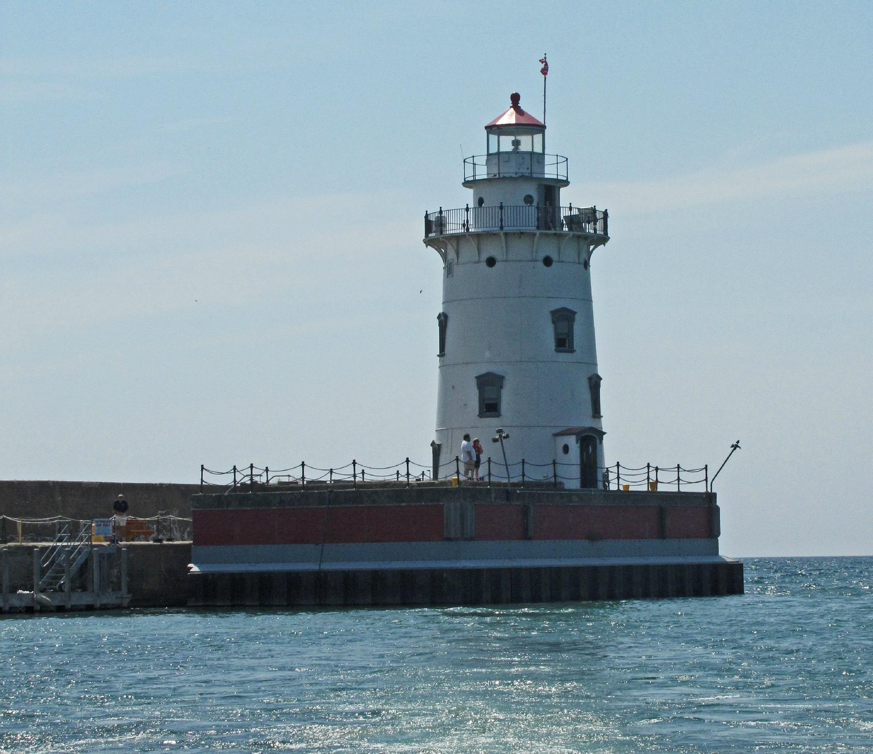
[[[251,490],[192,504],[192,605],[439,605],[742,593],[709,492]]]

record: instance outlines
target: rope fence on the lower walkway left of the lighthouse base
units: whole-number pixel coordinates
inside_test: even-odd
[[[0,516],[0,543],[52,542],[61,529],[73,524],[72,529],[80,531],[86,524],[94,526],[106,518],[13,518]],[[92,529],[92,531],[95,531]],[[127,516],[127,524],[118,527],[118,538],[125,542],[189,542],[191,540],[191,519],[181,516],[159,514],[148,518]]]

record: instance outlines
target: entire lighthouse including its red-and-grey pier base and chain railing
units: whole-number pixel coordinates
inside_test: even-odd
[[[608,216],[561,196],[567,159],[546,153],[546,125],[510,101],[485,126],[485,154],[464,160],[470,202],[424,215],[443,262],[433,479],[464,473],[470,435],[485,448],[482,482],[433,483],[409,458],[388,470],[353,459],[314,479],[305,463],[272,481],[265,467],[265,483],[254,464],[238,483],[235,466],[230,489],[210,492],[202,466],[190,605],[743,593],[743,564],[718,554],[707,467],[622,477],[616,463],[605,483],[591,257]]]

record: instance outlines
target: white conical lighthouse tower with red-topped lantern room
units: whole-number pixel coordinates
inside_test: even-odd
[[[443,260],[434,466],[454,475],[469,434],[505,476],[491,444],[503,428],[513,479],[524,460],[527,479],[557,473],[567,487],[600,487],[590,263],[608,215],[562,206],[567,158],[546,154],[545,124],[510,99],[485,126],[487,154],[464,160],[471,202],[425,215],[424,243]]]

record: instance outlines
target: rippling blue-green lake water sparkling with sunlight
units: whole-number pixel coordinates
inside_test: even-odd
[[[873,751],[873,559],[746,594],[0,620],[0,751]]]

